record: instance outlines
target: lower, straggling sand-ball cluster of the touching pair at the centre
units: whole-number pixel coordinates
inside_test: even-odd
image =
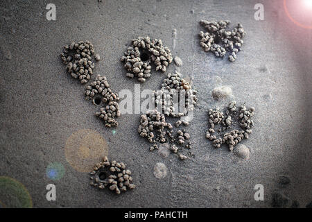
[[[169,149],[177,154],[180,160],[187,159],[187,155],[183,155],[182,150],[183,148],[191,148],[191,142],[187,142],[190,139],[189,133],[185,130],[177,130],[176,135],[174,135],[171,123],[167,123],[165,115],[157,110],[148,110],[146,114],[141,115],[138,132],[141,137],[145,137],[148,142],[153,144],[150,146],[150,151],[158,149],[157,143],[168,142],[170,144]]]

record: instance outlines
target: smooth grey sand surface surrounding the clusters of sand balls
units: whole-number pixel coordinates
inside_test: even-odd
[[[1,1],[0,3],[0,176],[21,182],[33,207],[271,207],[273,193],[285,194],[304,207],[312,200],[311,164],[311,30],[286,17],[274,1]],[[56,21],[46,19],[46,4],[55,3]],[[265,20],[254,19],[254,4],[263,3]],[[241,22],[247,35],[236,62],[205,53],[198,43],[200,19]],[[173,37],[173,29],[177,35]],[[96,108],[84,100],[77,80],[65,73],[62,46],[89,40],[102,60],[95,74],[107,76],[112,89],[134,92],[137,80],[125,78],[119,61],[138,36],[161,38],[179,56],[180,71],[198,89],[199,103],[188,127],[195,158],[148,151],[139,137],[139,114],[123,114],[119,126],[105,128]],[[173,44],[175,47],[173,49]],[[174,71],[171,64],[168,71]],[[95,77],[95,75],[94,75]],[[152,71],[141,89],[156,89],[165,74]],[[222,80],[222,83],[220,83]],[[205,139],[207,109],[216,85],[232,87],[234,99],[256,108],[249,160],[226,146],[216,150]],[[87,173],[67,162],[64,146],[80,129],[96,130],[106,140],[109,156],[133,172],[137,188],[116,196],[89,187]],[[46,176],[46,167],[60,162],[60,180]],[[154,167],[167,167],[155,178]],[[281,186],[279,176],[291,182]],[[57,200],[46,200],[53,183]],[[254,200],[254,185],[264,186],[264,201]]]

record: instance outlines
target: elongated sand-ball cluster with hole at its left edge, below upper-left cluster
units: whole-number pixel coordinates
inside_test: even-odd
[[[96,104],[96,95],[101,95],[101,101],[106,105],[99,112],[96,112],[96,116],[103,119],[107,127],[118,126],[115,118],[121,116],[119,110],[120,99],[118,94],[110,89],[110,84],[105,76],[96,76],[96,79],[87,86],[85,95],[87,99],[93,99],[94,104]]]

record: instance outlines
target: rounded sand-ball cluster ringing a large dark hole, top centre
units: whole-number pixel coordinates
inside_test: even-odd
[[[165,72],[173,60],[170,49],[162,44],[162,40],[150,40],[150,37],[132,40],[132,46],[128,47],[124,55],[121,62],[128,71],[125,75],[130,78],[137,77],[141,83],[150,77],[151,62],[156,66],[156,71]]]

